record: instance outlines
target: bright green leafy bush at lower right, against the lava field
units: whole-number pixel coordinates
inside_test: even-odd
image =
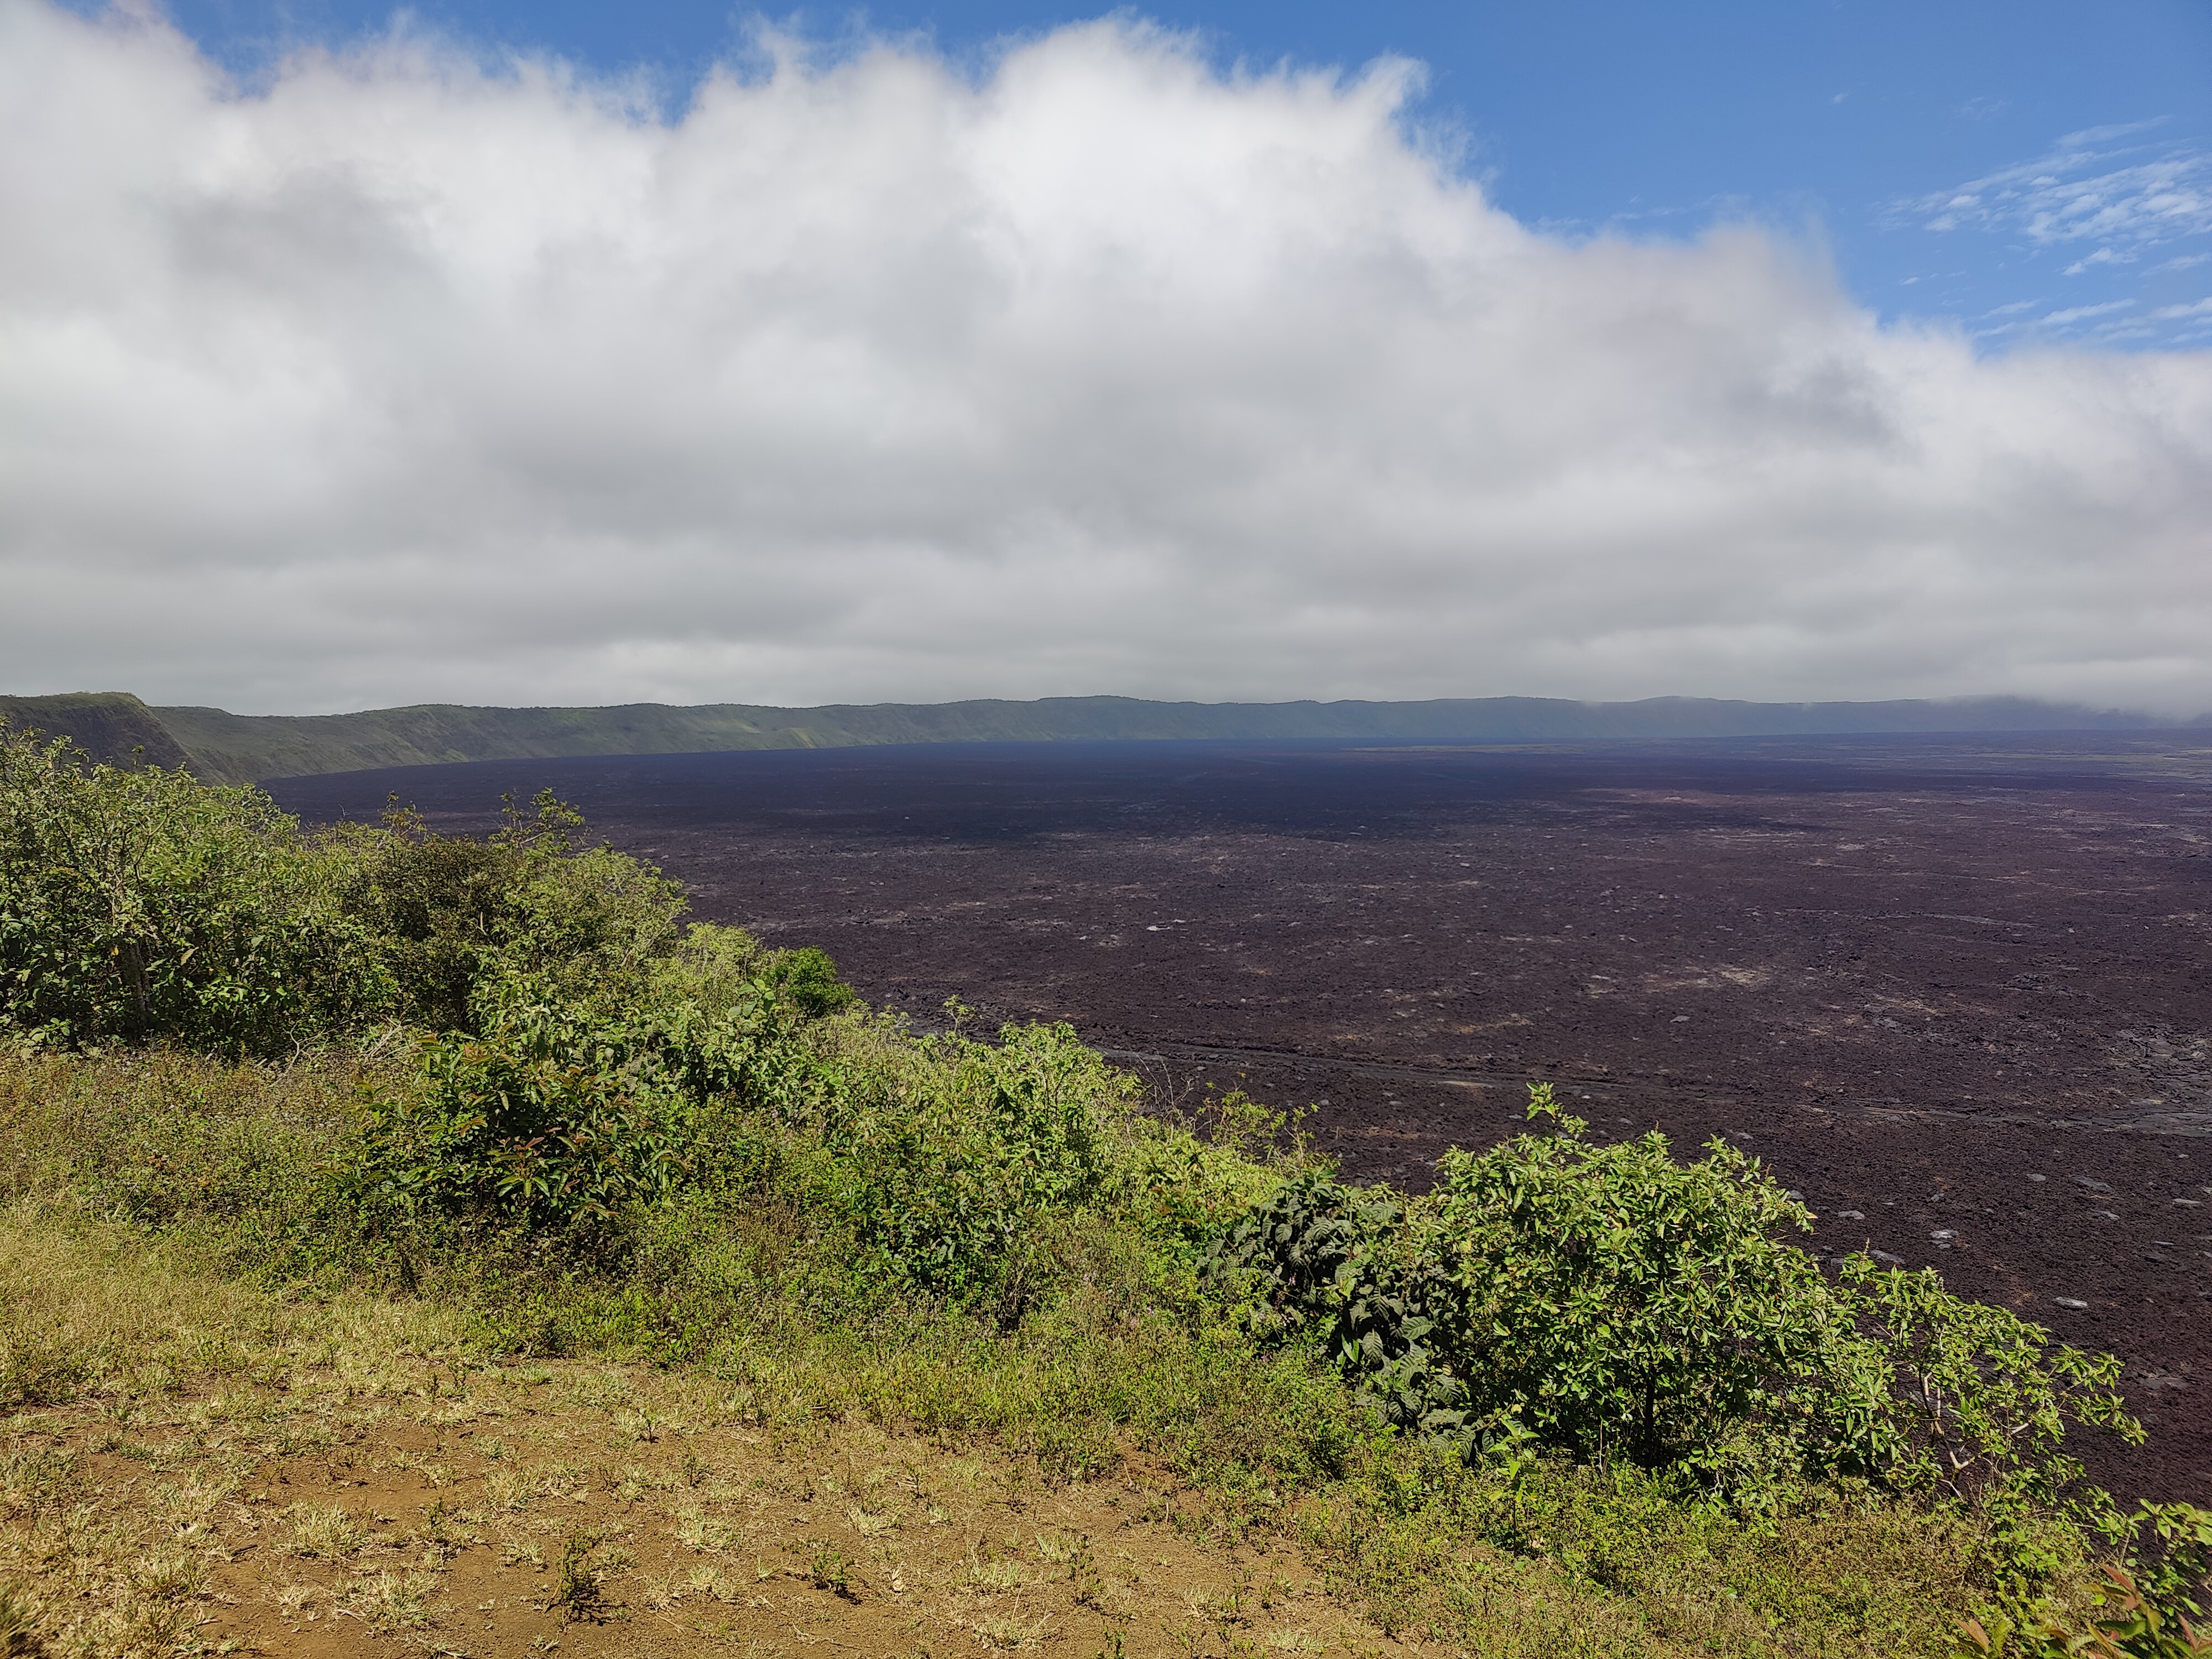
[[[2141,1440],[2115,1358],[1933,1272],[1854,1256],[1823,1276],[1776,1237],[1809,1225],[1803,1206],[1725,1141],[1683,1166],[1657,1133],[1593,1144],[1548,1086],[1528,1110],[1551,1133],[1447,1152],[1409,1206],[1285,1183],[1217,1274],[1243,1274],[1263,1329],[1318,1336],[1400,1427],[1674,1471],[1736,1504],[1843,1475],[2051,1504],[2079,1478],[2068,1425]]]

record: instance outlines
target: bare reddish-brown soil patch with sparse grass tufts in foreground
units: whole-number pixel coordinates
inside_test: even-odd
[[[394,1378],[385,1378],[394,1387]],[[1146,1464],[1029,1464],[604,1365],[18,1416],[0,1537],[148,1650],[1394,1650],[1298,1551]],[[44,1486],[38,1484],[44,1471]]]

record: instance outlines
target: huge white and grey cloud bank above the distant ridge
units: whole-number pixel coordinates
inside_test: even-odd
[[[7,681],[2212,708],[2212,361],[1533,232],[1416,84],[1102,22],[664,119],[0,0]]]

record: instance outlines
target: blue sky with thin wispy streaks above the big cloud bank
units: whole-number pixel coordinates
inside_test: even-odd
[[[1732,4],[1139,7],[1217,60],[1429,69],[1418,122],[1531,226],[1677,237],[1754,217],[1823,237],[1882,319],[1958,319],[1984,349],[2212,341],[2212,4],[1734,0]],[[389,27],[361,0],[175,0],[217,60]],[[498,53],[644,69],[681,100],[763,13],[701,0],[427,0]],[[772,11],[821,42],[925,33],[956,60],[1084,7]],[[1964,199],[1964,201],[1962,201]],[[1958,204],[1958,206],[1953,206]]]

